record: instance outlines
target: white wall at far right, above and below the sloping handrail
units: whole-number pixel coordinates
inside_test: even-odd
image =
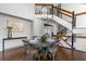
[[[74,11],[75,13],[86,12],[86,4],[82,4],[82,3],[62,3],[61,8],[69,10],[71,12]],[[82,28],[82,27],[86,28],[85,15],[81,15],[76,17],[76,28]]]

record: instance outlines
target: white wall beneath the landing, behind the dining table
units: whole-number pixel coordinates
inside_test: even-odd
[[[35,18],[34,22],[34,36],[41,36],[45,34],[45,27],[44,24],[47,23],[47,21],[40,20],[40,18]],[[48,24],[53,25],[53,29],[50,29],[53,31],[54,35],[57,35],[58,31],[58,23],[54,21],[49,21]]]

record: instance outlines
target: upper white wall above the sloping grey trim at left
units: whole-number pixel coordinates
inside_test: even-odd
[[[0,3],[0,12],[33,20],[35,15],[35,3]]]

